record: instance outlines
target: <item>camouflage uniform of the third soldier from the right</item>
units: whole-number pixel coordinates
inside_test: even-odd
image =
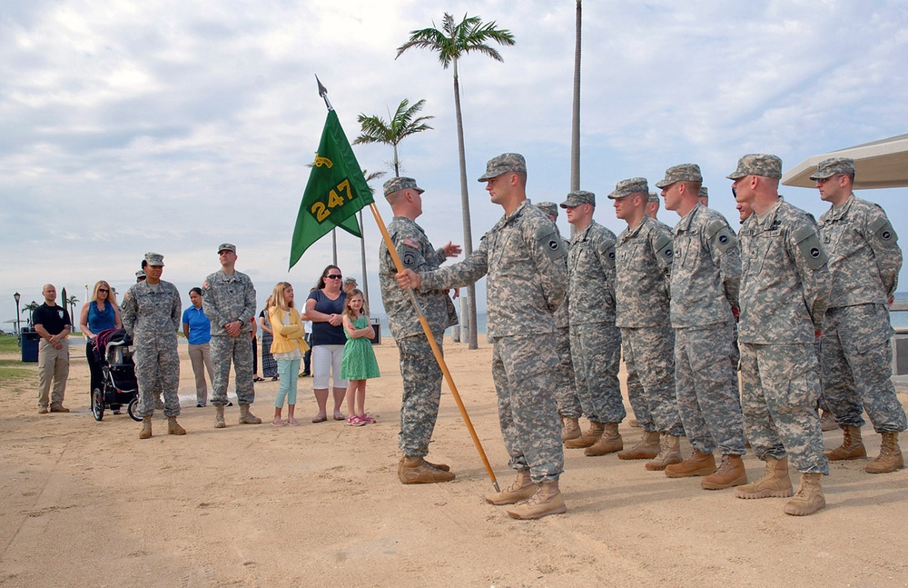
[[[674,229],[671,320],[675,386],[687,438],[700,453],[745,453],[731,357],[741,257],[728,221],[696,204]]]

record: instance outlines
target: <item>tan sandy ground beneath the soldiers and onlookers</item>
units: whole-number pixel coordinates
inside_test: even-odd
[[[215,430],[214,408],[195,407],[184,357],[180,422],[189,434],[163,434],[155,415],[146,441],[125,414],[94,420],[83,350],[74,342],[70,414],[36,414],[36,376],[0,390],[0,586],[908,585],[908,470],[871,475],[864,461],[833,463],[828,506],[798,518],[782,512],[784,499],[737,500],[642,462],[568,450],[568,513],[520,522],[484,502],[489,477],[447,386],[431,457],[457,480],[398,482],[390,339],[376,347],[383,375],[367,388],[378,424],[271,427],[278,384],[267,382],[256,384],[253,407],[265,424],[237,425],[233,406],[229,426]],[[486,344],[448,345],[504,486],[512,473],[490,356]],[[300,393],[300,416],[311,417],[311,379]],[[626,446],[639,432],[622,424]],[[879,436],[869,424],[864,434],[875,455]],[[825,435],[827,446],[840,439]],[[763,472],[752,454],[745,463],[752,479]]]

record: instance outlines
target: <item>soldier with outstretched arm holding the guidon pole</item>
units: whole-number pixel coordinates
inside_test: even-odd
[[[397,275],[406,288],[440,290],[487,284],[492,378],[498,394],[498,421],[517,479],[492,504],[515,504],[508,514],[538,519],[564,513],[558,477],[564,451],[558,432],[551,373],[558,365],[552,313],[564,299],[568,276],[561,236],[551,220],[527,201],[527,164],[520,154],[501,154],[479,176],[505,215],[467,259],[434,272]]]

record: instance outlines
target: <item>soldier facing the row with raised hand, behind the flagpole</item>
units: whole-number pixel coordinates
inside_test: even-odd
[[[396,177],[385,182],[385,199],[394,212],[388,225],[391,242],[405,268],[415,272],[437,270],[448,257],[460,254],[460,245],[448,242],[435,249],[416,219],[422,214],[424,190],[410,177]],[[400,376],[403,379],[403,399],[400,403],[399,446],[403,452],[398,464],[401,483],[450,482],[454,474],[444,463],[429,463],[429,442],[439,418],[441,399],[441,368],[432,354],[426,334],[410,296],[394,280],[397,268],[381,242],[379,249],[379,282],[381,300],[388,314],[388,327],[400,354]],[[439,350],[444,342],[445,329],[457,324],[457,311],[447,290],[416,292],[419,308],[429,322]]]

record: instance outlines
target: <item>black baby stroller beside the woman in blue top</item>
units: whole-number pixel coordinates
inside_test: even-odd
[[[94,420],[104,418],[104,408],[111,404],[126,404],[126,412],[133,421],[141,421],[139,414],[139,385],[135,381],[133,340],[123,329],[105,329],[94,339],[94,353],[102,358],[104,374],[102,389],[92,391]]]

